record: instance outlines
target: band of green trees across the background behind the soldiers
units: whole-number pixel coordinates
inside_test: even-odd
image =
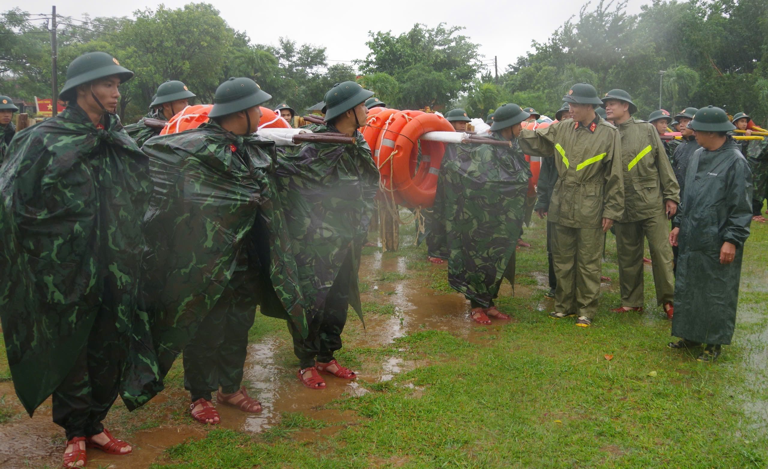
[[[51,88],[45,20],[19,8],[0,18],[0,91],[31,101]],[[460,26],[416,23],[400,34],[370,31],[366,58],[328,64],[326,49],[292,38],[259,41],[227,25],[213,5],[139,10],[131,18],[58,18],[58,83],[69,61],[87,51],[114,54],[136,78],[121,88],[125,121],[144,114],[157,86],[181,80],[210,103],[230,76],[253,78],[297,111],[339,81],[357,80],[401,109],[461,105],[485,117],[515,102],[554,114],[572,84],[605,93],[621,88],[638,115],[659,105],[680,111],[714,104],[730,114],[768,117],[768,7],[764,0],[651,0],[637,15],[626,0],[587,3],[578,15],[534,41],[498,79]],[[487,62],[487,61],[485,61]],[[660,74],[663,71],[663,74]]]

